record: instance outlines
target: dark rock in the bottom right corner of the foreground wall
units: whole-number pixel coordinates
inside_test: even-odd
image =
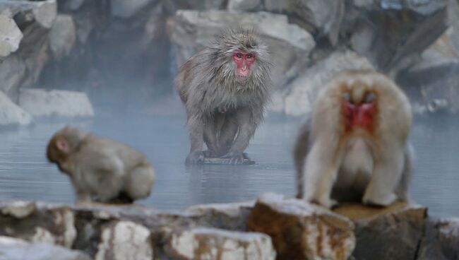
[[[431,218],[417,260],[459,259],[459,218]]]

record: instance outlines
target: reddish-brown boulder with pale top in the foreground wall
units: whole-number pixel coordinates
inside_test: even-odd
[[[262,194],[249,215],[250,231],[268,234],[277,259],[342,259],[355,247],[352,221],[326,208]]]

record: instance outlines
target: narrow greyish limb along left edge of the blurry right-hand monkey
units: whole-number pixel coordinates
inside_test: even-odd
[[[299,130],[299,135],[293,150],[294,164],[297,171],[297,198],[302,199],[304,196],[304,161],[309,150],[309,136],[311,132],[311,119],[306,119],[302,128]]]

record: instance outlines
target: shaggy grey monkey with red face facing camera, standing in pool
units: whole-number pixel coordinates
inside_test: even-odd
[[[186,107],[187,164],[208,157],[244,160],[269,98],[268,47],[253,30],[228,30],[181,66],[177,90]],[[203,143],[208,150],[203,151]]]

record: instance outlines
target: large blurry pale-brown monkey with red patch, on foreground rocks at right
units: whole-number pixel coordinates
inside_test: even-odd
[[[345,71],[318,94],[294,150],[299,198],[330,208],[408,200],[410,102],[374,71]]]

